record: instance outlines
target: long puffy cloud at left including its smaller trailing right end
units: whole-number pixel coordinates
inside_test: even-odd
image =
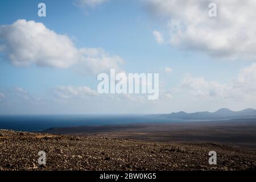
[[[102,48],[76,48],[67,35],[57,34],[33,20],[20,19],[0,26],[0,38],[0,51],[16,66],[69,68],[82,64],[84,70],[96,73],[123,63],[121,57],[110,56]]]

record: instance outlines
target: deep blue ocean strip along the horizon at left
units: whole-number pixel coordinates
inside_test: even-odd
[[[0,129],[42,131],[51,127],[184,122],[182,119],[144,115],[1,115]]]

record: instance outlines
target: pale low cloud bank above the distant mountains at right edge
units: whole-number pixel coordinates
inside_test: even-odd
[[[256,63],[241,69],[238,76],[221,84],[207,81],[203,77],[187,75],[175,92],[189,92],[195,97],[214,98],[219,100],[256,101]]]

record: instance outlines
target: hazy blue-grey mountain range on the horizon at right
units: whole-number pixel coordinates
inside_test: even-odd
[[[256,118],[255,109],[245,109],[241,111],[232,111],[228,108],[222,108],[214,113],[208,111],[196,112],[196,113],[185,113],[180,111],[178,113],[171,114],[157,114],[155,117],[165,117],[165,118],[174,118],[174,119],[238,119],[238,118]]]

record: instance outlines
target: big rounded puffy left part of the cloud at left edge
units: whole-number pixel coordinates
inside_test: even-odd
[[[79,51],[66,35],[56,34],[43,23],[17,20],[0,27],[0,38],[11,63],[67,68],[79,59]]]

